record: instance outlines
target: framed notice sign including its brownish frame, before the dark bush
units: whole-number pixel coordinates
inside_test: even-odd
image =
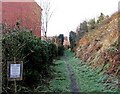
[[[23,74],[23,62],[22,61],[16,61],[14,63],[13,61],[7,62],[7,78],[8,80],[22,80],[22,74]]]

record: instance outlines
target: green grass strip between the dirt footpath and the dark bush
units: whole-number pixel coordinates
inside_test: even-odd
[[[50,81],[49,92],[70,92],[69,79],[63,59],[55,61],[54,79]]]

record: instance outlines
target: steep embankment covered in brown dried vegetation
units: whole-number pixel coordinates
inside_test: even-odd
[[[120,47],[119,22],[120,13],[114,13],[104,20],[96,29],[86,33],[78,42],[76,57],[87,62],[93,68],[100,68],[107,74],[119,75]]]

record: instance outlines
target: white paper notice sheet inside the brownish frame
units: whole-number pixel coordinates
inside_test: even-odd
[[[10,64],[10,78],[20,77],[20,64]]]

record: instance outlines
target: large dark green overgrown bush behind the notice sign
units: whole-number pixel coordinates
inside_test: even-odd
[[[23,61],[23,80],[19,86],[30,88],[49,76],[50,65],[58,55],[59,48],[52,43],[41,40],[26,29],[13,29],[3,35],[3,92],[13,91],[12,82],[7,81],[7,61]],[[22,89],[21,89],[22,90]],[[24,91],[24,90],[23,90]]]

